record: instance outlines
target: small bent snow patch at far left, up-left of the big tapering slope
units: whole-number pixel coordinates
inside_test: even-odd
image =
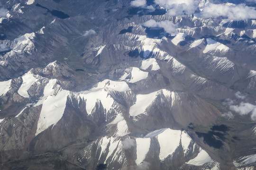
[[[38,80],[38,78],[31,71],[28,71],[22,76],[22,80],[23,82],[18,89],[18,94],[23,97],[29,97],[27,90]]]

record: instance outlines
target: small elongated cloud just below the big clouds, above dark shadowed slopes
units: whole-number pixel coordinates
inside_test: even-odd
[[[165,32],[169,33],[169,34],[176,33],[176,28],[177,28],[177,25],[175,25],[172,21],[165,20],[165,21],[156,22],[154,19],[146,21],[143,24],[143,26],[146,26],[146,27],[161,27],[161,28],[164,28]]]

